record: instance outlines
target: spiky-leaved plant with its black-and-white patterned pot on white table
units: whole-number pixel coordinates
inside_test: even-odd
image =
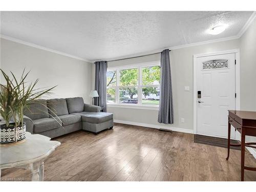
[[[50,89],[36,89],[38,82],[27,83],[26,78],[29,74],[25,69],[21,78],[18,80],[11,72],[11,77],[0,69],[5,84],[0,83],[0,115],[2,122],[0,126],[0,143],[11,144],[26,139],[26,125],[23,121],[23,112],[29,110],[29,103],[41,98],[46,94],[51,94]]]

